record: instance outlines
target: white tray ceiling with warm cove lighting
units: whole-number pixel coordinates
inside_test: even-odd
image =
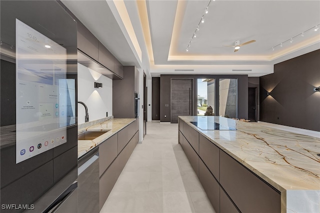
[[[118,11],[112,0],[61,1],[123,65],[148,64],[146,69],[152,76],[190,74],[174,69],[194,69],[193,74],[234,74],[231,69],[252,69],[237,73],[260,76],[271,73],[275,63],[320,48],[320,29],[314,31],[320,24],[320,0],[147,0],[147,16],[139,13],[135,0],[124,0],[142,62],[124,28],[123,11]],[[203,14],[205,21],[185,51]],[[147,19],[148,26],[139,23],[140,19]],[[143,27],[149,28],[149,34],[143,35]],[[299,35],[303,31],[304,36]],[[147,36],[152,54],[147,51]],[[288,40],[291,37],[292,43]],[[223,46],[252,39],[256,42],[241,46],[237,52]]]

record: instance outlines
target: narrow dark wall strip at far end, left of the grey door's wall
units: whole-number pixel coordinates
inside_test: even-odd
[[[152,77],[152,120],[160,120],[160,77]]]

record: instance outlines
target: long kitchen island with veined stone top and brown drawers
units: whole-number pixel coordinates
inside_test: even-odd
[[[319,212],[319,138],[219,116],[178,122],[216,212]]]

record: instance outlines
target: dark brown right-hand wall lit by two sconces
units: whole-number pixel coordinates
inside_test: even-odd
[[[320,131],[320,49],[274,65],[260,77],[260,120]],[[270,92],[267,96],[266,92]]]

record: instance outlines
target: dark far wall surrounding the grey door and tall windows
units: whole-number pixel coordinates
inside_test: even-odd
[[[216,91],[218,91],[219,78],[237,78],[238,79],[238,118],[247,119],[248,116],[248,76],[247,75],[195,75],[195,74],[161,74],[160,76],[160,121],[170,122],[170,87],[171,78],[192,78],[193,79],[193,115],[197,114],[197,78],[214,78]],[[217,95],[216,95],[217,96]],[[168,106],[165,106],[168,104]],[[215,106],[218,106],[218,96],[215,100]],[[154,107],[154,105],[152,105]],[[218,107],[215,107],[218,111]],[[218,113],[215,111],[215,115]],[[164,117],[166,115],[166,117]]]

